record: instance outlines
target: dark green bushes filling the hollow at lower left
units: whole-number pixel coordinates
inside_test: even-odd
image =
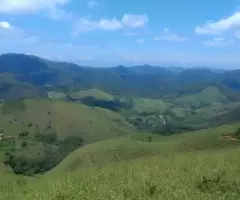
[[[14,173],[23,175],[41,174],[54,168],[71,151],[82,146],[82,137],[70,136],[58,140],[56,133],[36,133],[37,142],[28,145],[22,141],[16,151],[16,143],[11,143],[11,151],[5,154],[4,164],[12,168]],[[41,142],[40,144],[38,142]],[[51,144],[51,145],[49,145]]]

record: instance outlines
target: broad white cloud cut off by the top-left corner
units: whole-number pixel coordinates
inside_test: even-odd
[[[51,11],[69,0],[0,0],[0,13],[29,14]]]

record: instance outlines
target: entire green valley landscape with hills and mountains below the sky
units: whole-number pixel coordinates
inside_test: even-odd
[[[0,199],[238,199],[236,74],[1,55]]]

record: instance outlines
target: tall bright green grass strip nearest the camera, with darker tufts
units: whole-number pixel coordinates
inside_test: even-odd
[[[20,188],[1,187],[1,199],[234,200],[240,195],[239,156],[239,149],[186,152],[48,174],[30,184],[22,180]]]

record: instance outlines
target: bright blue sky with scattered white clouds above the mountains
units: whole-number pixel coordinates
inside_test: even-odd
[[[0,0],[0,54],[240,68],[240,0]]]

